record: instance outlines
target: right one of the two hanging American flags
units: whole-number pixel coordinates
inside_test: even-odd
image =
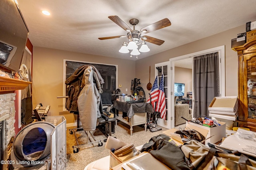
[[[160,112],[160,117],[166,119],[166,104],[165,104],[165,94],[164,94],[164,74],[162,74],[160,87],[159,87],[159,96],[158,102],[156,104],[156,111]]]

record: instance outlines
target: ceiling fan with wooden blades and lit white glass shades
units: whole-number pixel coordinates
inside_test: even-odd
[[[135,29],[135,25],[139,23],[138,19],[131,19],[129,22],[131,25],[133,25],[133,29],[131,29],[124,21],[122,21],[118,16],[109,16],[110,20],[112,20],[114,23],[119,25],[122,29],[127,31],[127,35],[118,35],[118,36],[112,36],[112,37],[100,37],[98,39],[104,40],[104,39],[113,39],[113,38],[122,38],[127,37],[129,40],[129,43],[124,42],[121,49],[119,50],[120,53],[129,53],[131,50],[131,56],[132,55],[139,55],[140,52],[148,52],[150,49],[146,45],[146,42],[153,43],[156,45],[162,45],[164,43],[163,40],[153,38],[147,35],[142,35],[146,33],[150,33],[152,31],[156,31],[158,29],[162,29],[164,27],[168,27],[171,25],[170,20],[168,18],[164,18],[160,21],[157,21],[155,23],[152,23],[146,27],[143,27],[140,29],[140,31]],[[141,40],[141,41],[140,41]],[[145,42],[146,41],[146,42]],[[142,44],[140,49],[138,50],[138,45]]]

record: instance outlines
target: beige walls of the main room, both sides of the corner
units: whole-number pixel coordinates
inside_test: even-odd
[[[148,98],[148,93],[150,91],[147,90],[146,84],[148,84],[149,65],[151,65],[151,73],[154,73],[154,64],[156,63],[169,61],[169,59],[173,57],[195,53],[222,45],[225,45],[226,53],[226,96],[237,96],[238,57],[237,53],[231,49],[231,39],[236,38],[236,35],[242,32],[245,32],[245,25],[138,61],[34,47],[32,73],[33,107],[39,103],[42,103],[43,106],[50,105],[49,115],[64,115],[67,119],[67,123],[76,122],[73,114],[68,111],[62,111],[62,99],[57,98],[57,96],[62,96],[63,59],[116,64],[118,65],[118,84],[122,84],[122,88],[120,88],[121,91],[129,94],[131,80],[140,78],[141,86],[145,90],[146,98]],[[154,78],[154,74],[151,74],[150,80],[154,81]],[[128,92],[125,92],[126,88],[128,88]]]

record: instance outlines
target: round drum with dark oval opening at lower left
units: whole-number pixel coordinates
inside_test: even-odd
[[[13,151],[19,160],[42,160],[51,153],[50,135],[55,126],[38,121],[24,127],[14,139]]]

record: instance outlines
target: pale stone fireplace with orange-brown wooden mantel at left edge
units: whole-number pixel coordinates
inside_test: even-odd
[[[15,90],[22,90],[32,84],[23,80],[0,76],[0,149],[1,160],[8,160],[15,134]],[[1,125],[2,123],[2,125]],[[0,169],[7,169],[8,164],[0,164]]]

